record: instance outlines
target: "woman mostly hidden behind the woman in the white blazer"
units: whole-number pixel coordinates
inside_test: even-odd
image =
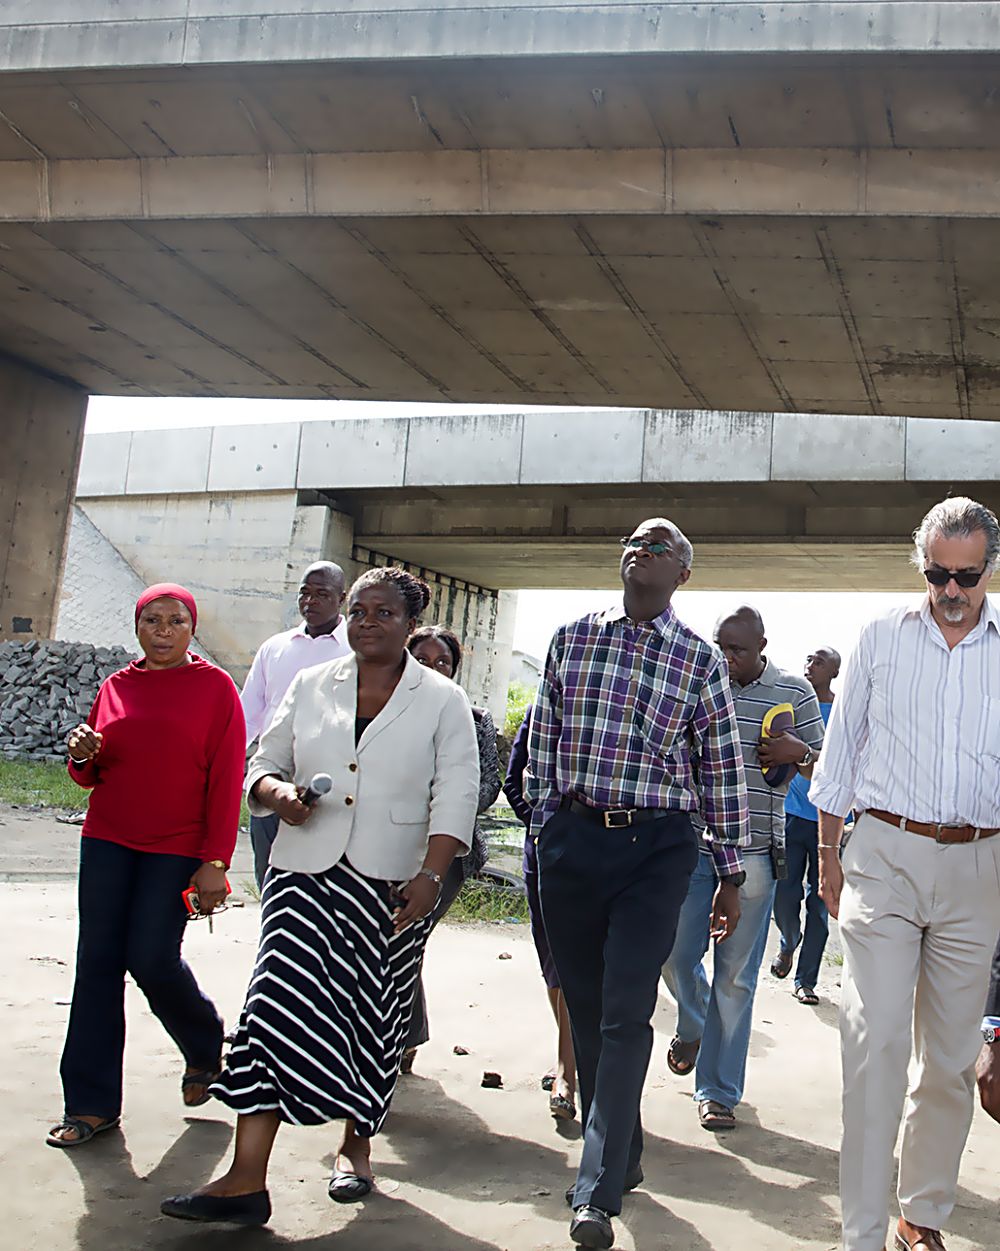
[[[434,669],[444,678],[454,682],[458,678],[458,667],[462,664],[462,644],[458,636],[444,626],[422,626],[414,631],[407,643],[411,656],[428,669]],[[497,756],[497,727],[488,709],[473,706],[472,719],[476,722],[476,738],[479,744],[479,807],[477,816],[482,816],[494,802],[501,792],[499,757]],[[452,867],[444,877],[441,888],[441,899],[434,908],[432,928],[441,921],[451,908],[462,889],[463,883],[476,877],[486,864],[487,844],[483,832],[478,824],[472,836],[472,851],[467,856],[456,856]],[[403,1052],[401,1072],[408,1073],[413,1070],[413,1060],[417,1048],[423,1046],[431,1037],[427,1022],[427,997],[423,988],[423,966],[421,966],[421,980],[417,986],[417,995],[413,1000],[413,1017],[409,1022],[409,1037]]]

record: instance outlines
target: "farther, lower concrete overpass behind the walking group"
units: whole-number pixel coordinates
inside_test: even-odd
[[[617,585],[617,540],[651,514],[693,540],[696,589],[916,589],[906,535],[934,500],[969,487],[1000,508],[996,433],[642,409],[149,430],[86,439],[79,502],[143,577],[198,592],[235,674],[305,563],[393,560],[428,577],[473,694],[502,704],[511,592]]]

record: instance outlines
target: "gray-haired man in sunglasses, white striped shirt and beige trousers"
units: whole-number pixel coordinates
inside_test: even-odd
[[[911,1050],[894,1247],[944,1248],[1000,931],[1000,525],[945,499],[914,540],[927,594],[862,631],[810,788],[845,953],[845,1251],[885,1246]]]

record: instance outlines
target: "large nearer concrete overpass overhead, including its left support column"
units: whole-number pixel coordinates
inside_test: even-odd
[[[50,628],[88,393],[1000,417],[997,50],[964,0],[8,4],[0,629]]]

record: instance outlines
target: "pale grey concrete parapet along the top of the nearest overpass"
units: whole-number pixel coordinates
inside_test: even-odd
[[[253,64],[601,53],[1000,48],[1000,6],[966,0],[15,0],[11,68]],[[5,30],[6,28],[6,30]]]

